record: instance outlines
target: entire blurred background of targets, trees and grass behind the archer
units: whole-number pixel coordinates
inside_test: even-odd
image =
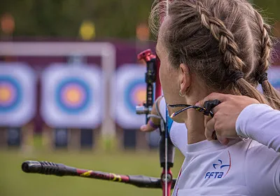
[[[159,177],[159,133],[143,134],[152,0],[1,0],[0,195],[160,195],[78,177],[25,174],[25,160]],[[280,1],[254,0],[280,38]],[[280,45],[269,80],[280,90]],[[173,173],[183,162],[176,152]]]

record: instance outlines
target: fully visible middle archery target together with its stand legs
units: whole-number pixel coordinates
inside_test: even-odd
[[[94,65],[57,63],[43,71],[41,115],[52,149],[94,147],[94,129],[102,122],[100,86],[102,73]]]

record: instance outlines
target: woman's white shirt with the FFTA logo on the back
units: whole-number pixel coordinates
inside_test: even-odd
[[[165,116],[166,111],[160,112]],[[252,139],[234,139],[227,146],[207,140],[188,145],[186,127],[178,126],[169,134],[186,158],[173,196],[280,195],[279,153]]]

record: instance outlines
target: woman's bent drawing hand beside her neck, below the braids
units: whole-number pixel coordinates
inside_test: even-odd
[[[260,104],[258,100],[232,94],[211,93],[200,102],[197,106],[203,106],[204,102],[218,99],[221,104],[216,106],[212,111],[214,118],[206,118],[205,120],[205,137],[212,140],[212,134],[216,131],[216,135],[221,144],[228,144],[228,139],[237,138],[235,124],[241,111],[251,104]]]

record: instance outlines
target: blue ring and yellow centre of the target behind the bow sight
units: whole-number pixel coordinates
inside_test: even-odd
[[[134,80],[125,89],[125,104],[130,112],[135,113],[135,107],[146,101],[146,83],[144,79]]]

